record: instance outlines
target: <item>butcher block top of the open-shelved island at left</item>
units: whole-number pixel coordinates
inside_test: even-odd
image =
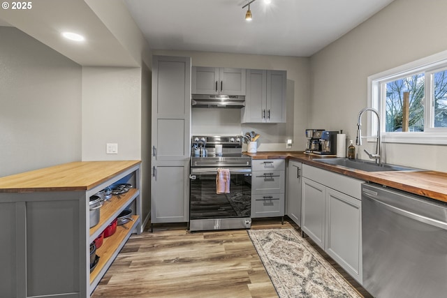
[[[88,191],[140,161],[75,161],[0,177],[0,193]]]

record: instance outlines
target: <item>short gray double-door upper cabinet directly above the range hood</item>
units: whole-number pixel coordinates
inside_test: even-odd
[[[192,94],[245,95],[246,72],[242,68],[193,66]]]

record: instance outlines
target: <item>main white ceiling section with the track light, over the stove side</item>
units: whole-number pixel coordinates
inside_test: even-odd
[[[126,0],[155,50],[309,57],[393,0]]]

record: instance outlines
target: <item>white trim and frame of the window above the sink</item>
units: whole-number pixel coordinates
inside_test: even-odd
[[[369,107],[374,107],[379,111],[381,115],[385,114],[385,107],[381,105],[379,100],[379,92],[380,84],[375,81],[392,78],[392,77],[401,77],[407,73],[415,73],[420,68],[426,73],[430,73],[430,69],[437,68],[443,64],[447,63],[447,51],[439,52],[437,54],[433,54],[432,56],[425,57],[423,59],[418,59],[416,61],[412,61],[408,64],[404,64],[402,66],[397,66],[395,68],[385,70],[381,73],[376,73],[375,75],[370,75],[367,79],[367,103]],[[425,80],[427,82],[427,75],[425,76]],[[425,88],[425,98],[431,98],[430,94],[427,94],[429,88]],[[427,117],[429,111],[425,109],[425,131],[416,132],[416,133],[384,133],[384,125],[385,121],[381,121],[381,131],[382,131],[382,142],[390,142],[390,143],[408,143],[408,144],[447,144],[447,128],[430,128],[428,127],[430,119]],[[375,122],[375,117],[372,117],[371,114],[367,115],[367,135],[369,137],[376,136],[377,132],[377,124]],[[368,141],[375,142],[376,139],[368,139]]]

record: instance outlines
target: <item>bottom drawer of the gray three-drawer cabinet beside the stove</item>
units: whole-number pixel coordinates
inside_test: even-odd
[[[251,195],[251,217],[284,216],[284,194]]]

